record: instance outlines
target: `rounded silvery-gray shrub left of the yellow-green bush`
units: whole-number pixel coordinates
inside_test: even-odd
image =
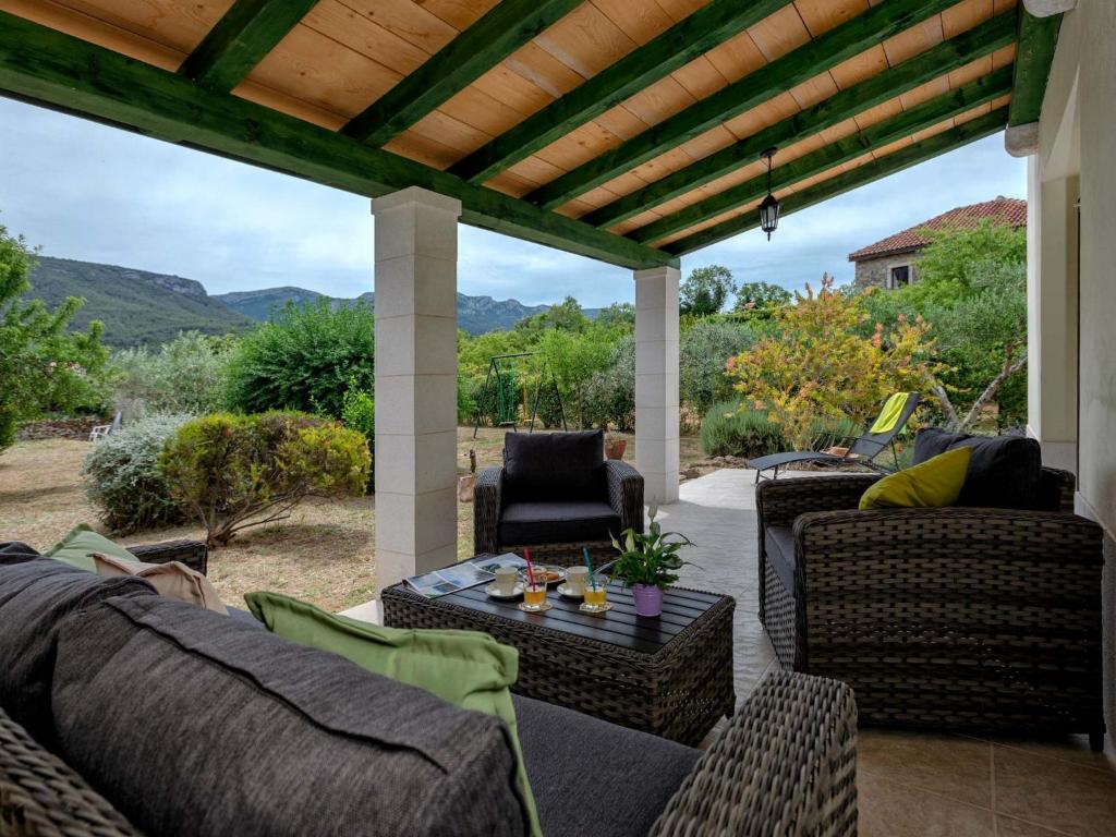
[[[129,535],[185,519],[158,459],[166,441],[187,421],[189,415],[148,416],[93,445],[81,475],[86,497],[107,527]]]

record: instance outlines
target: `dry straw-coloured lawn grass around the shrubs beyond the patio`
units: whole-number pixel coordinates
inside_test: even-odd
[[[634,461],[627,435],[625,459]],[[469,451],[478,468],[499,464],[503,431],[458,429],[458,472],[469,473]],[[81,491],[80,468],[88,442],[19,442],[0,455],[0,540],[22,540],[45,550],[78,523],[105,531]],[[701,459],[695,437],[682,440],[682,462]],[[108,533],[108,532],[105,532]],[[376,591],[376,500],[308,500],[289,520],[249,529],[210,554],[209,577],[221,598],[241,605],[246,593],[275,590],[343,610]],[[122,537],[124,545],[176,538],[204,538],[204,530],[181,526]],[[473,507],[458,504],[458,555],[472,554]]]

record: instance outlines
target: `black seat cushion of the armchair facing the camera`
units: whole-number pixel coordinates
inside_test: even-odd
[[[513,502],[500,514],[500,542],[580,543],[620,533],[620,516],[603,500]]]

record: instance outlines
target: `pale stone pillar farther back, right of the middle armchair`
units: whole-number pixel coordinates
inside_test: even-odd
[[[679,499],[679,269],[635,271],[635,466],[644,499]]]

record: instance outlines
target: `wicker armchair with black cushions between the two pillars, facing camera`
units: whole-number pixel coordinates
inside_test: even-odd
[[[609,533],[643,531],[643,477],[604,458],[604,433],[508,433],[504,465],[473,488],[473,552],[577,564],[615,557]]]

